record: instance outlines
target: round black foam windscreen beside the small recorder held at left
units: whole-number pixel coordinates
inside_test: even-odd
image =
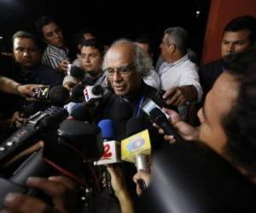
[[[49,89],[49,101],[55,105],[63,106],[69,98],[69,91],[61,85]]]

